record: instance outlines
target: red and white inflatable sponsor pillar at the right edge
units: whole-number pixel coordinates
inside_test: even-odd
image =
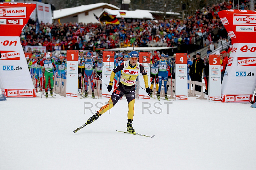
[[[256,85],[256,11],[218,12],[233,47],[221,84],[221,102],[249,103]]]

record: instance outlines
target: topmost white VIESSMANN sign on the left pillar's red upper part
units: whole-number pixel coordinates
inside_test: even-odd
[[[26,18],[26,7],[0,7],[0,18]]]

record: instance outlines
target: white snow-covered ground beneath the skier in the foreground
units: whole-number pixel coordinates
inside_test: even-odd
[[[136,100],[133,127],[155,135],[147,138],[116,132],[126,130],[125,98],[74,134],[92,116],[88,109],[84,113],[84,102],[98,110],[96,102],[105,104],[107,99],[57,95],[0,102],[0,169],[256,169],[256,109],[251,104],[189,97],[169,104],[168,110],[168,101],[154,107],[157,100]],[[152,113],[142,108],[149,107],[145,102]]]

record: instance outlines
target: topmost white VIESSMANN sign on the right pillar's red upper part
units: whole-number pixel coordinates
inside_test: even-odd
[[[233,25],[255,25],[256,14],[234,14]]]

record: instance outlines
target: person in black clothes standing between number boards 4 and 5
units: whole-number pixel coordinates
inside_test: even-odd
[[[204,60],[201,59],[201,53],[196,53],[196,58],[193,61],[193,64],[191,66],[188,66],[190,68],[190,71],[193,70],[193,80],[202,82],[202,73],[204,70]],[[192,76],[191,76],[192,78]],[[195,90],[201,92],[201,86],[195,85]]]

